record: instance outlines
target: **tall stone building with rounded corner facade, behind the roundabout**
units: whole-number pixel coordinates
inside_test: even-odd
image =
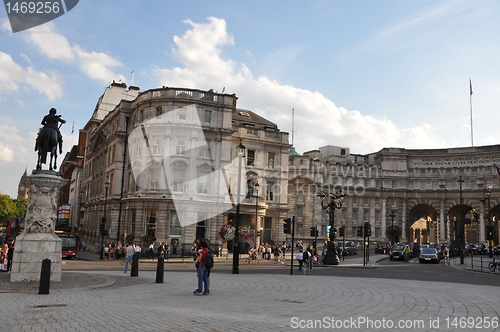
[[[127,95],[133,87],[110,88]],[[90,248],[133,239],[141,246],[168,242],[177,251],[200,238],[226,248],[218,230],[235,221],[240,143],[247,148],[240,225],[255,229],[257,242],[284,239],[279,220],[287,195],[278,188],[288,181],[287,133],[238,109],[234,94],[163,87],[115,100],[103,112],[104,97],[83,129],[80,233]]]

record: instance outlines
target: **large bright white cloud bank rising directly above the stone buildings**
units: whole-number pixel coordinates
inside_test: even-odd
[[[295,109],[295,145],[299,151],[321,145],[350,147],[356,153],[375,152],[386,146],[407,148],[437,147],[432,128],[425,125],[397,128],[386,118],[363,115],[339,108],[319,92],[283,85],[268,77],[254,78],[250,70],[221,57],[221,46],[234,44],[222,19],[209,18],[205,24],[191,25],[182,37],[175,36],[172,55],[184,68],[156,69],[160,84],[236,93],[238,106],[253,110],[276,122],[284,131],[291,130],[291,110]]]

